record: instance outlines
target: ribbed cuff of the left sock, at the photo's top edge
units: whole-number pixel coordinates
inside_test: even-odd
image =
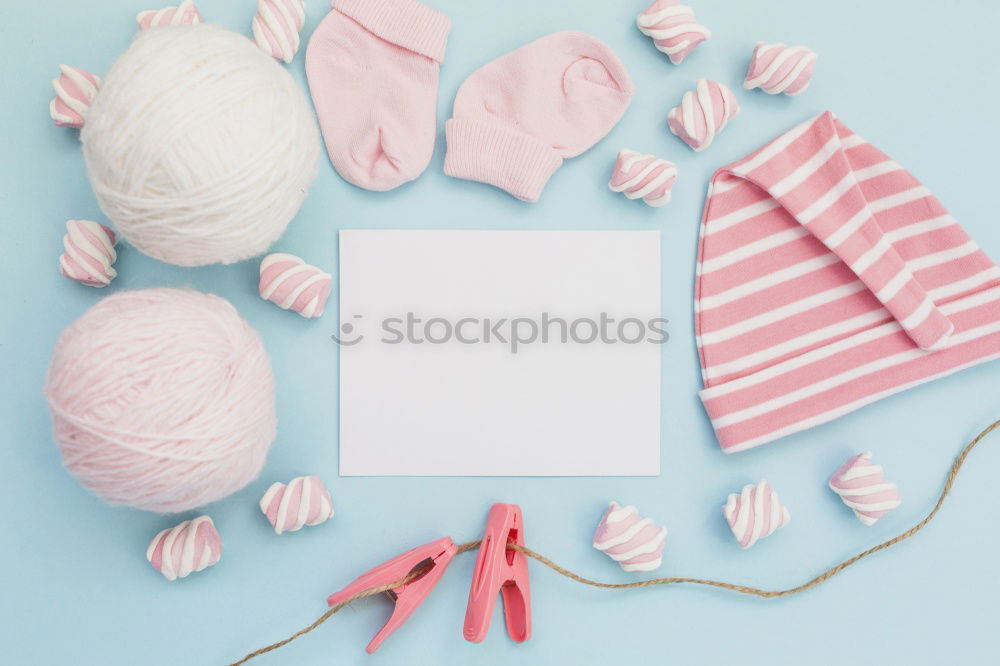
[[[451,20],[417,0],[333,0],[333,8],[404,49],[444,62]]]

